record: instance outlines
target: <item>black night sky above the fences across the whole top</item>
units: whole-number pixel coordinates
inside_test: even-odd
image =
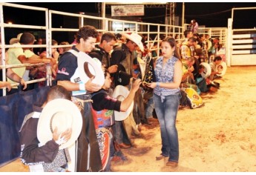
[[[16,4],[47,7],[49,10],[70,13],[99,13],[97,3],[95,2],[22,2]],[[182,7],[183,3],[177,2],[177,8],[175,9],[176,16],[182,16]],[[185,2],[186,23],[189,23],[191,19],[196,19],[200,25],[206,25],[206,27],[227,27],[228,19],[232,16],[232,7],[256,7],[256,2]],[[110,14],[110,8],[107,8],[106,12]],[[163,23],[164,16],[165,8],[145,8],[145,16],[141,17],[143,22]],[[234,13],[234,27],[255,27],[255,16],[256,10],[236,10]]]

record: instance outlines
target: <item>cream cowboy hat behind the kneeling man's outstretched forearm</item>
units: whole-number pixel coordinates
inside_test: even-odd
[[[123,101],[128,96],[128,94],[129,94],[128,87],[117,85],[114,89],[112,96],[118,99],[119,101]],[[131,103],[128,110],[126,110],[125,112],[118,112],[115,110],[114,111],[115,120],[122,121],[126,119],[130,115],[133,109],[134,109],[134,102]]]

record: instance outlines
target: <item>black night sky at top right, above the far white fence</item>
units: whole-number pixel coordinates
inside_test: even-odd
[[[185,3],[187,23],[191,19],[206,27],[227,27],[228,19],[232,16],[233,7],[256,7],[252,2],[207,2]],[[182,3],[177,6],[177,14],[182,13]],[[233,28],[255,27],[255,10],[234,10]]]

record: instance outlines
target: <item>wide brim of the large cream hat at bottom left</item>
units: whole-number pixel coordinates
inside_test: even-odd
[[[46,142],[53,139],[53,133],[50,130],[50,121],[52,116],[58,112],[65,112],[69,114],[68,116],[73,117],[72,119],[68,118],[69,121],[67,121],[72,123],[71,137],[68,142],[59,146],[59,149],[64,149],[73,145],[82,131],[82,114],[79,108],[68,99],[53,99],[52,101],[47,102],[47,105],[45,105],[45,108],[43,108],[39,117],[37,138],[42,145],[45,145]]]

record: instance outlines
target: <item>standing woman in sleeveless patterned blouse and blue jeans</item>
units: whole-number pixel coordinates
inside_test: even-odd
[[[175,39],[167,37],[161,45],[163,56],[156,61],[157,82],[148,84],[154,88],[154,105],[160,122],[162,148],[157,160],[168,157],[167,166],[177,167],[179,162],[179,140],[176,128],[177,110],[180,105],[180,82],[183,76],[182,62]]]

